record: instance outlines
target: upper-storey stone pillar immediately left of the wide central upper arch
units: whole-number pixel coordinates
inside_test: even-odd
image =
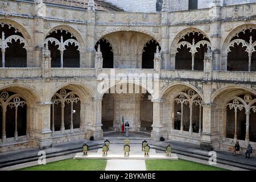
[[[95,11],[94,1],[89,2],[88,7],[88,25],[86,32],[86,67],[94,68],[94,46],[95,46]]]

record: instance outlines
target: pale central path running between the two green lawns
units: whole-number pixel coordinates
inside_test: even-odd
[[[105,171],[146,171],[145,160],[110,159]]]

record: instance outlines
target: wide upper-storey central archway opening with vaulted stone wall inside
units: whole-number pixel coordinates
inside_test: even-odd
[[[102,36],[98,44],[103,57],[103,68],[154,68],[156,42],[152,36],[136,31],[117,31]]]

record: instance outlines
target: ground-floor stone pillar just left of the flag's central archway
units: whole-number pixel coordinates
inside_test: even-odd
[[[88,123],[88,138],[94,137],[94,140],[100,140],[103,138],[103,130],[101,129],[101,107],[102,99],[94,98],[92,101],[92,123]]]

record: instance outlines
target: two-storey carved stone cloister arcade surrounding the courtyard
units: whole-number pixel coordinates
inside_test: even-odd
[[[208,10],[193,10],[204,23],[186,24],[180,19],[187,11],[129,16],[46,7],[48,13],[30,18],[1,15],[1,152],[101,139],[121,129],[122,116],[154,140],[207,150],[228,150],[239,140],[256,148],[253,18],[214,22]],[[70,16],[51,19],[56,9]],[[81,19],[69,19],[74,13]],[[118,79],[158,75],[158,94],[98,93],[99,75],[112,82],[112,71]]]

